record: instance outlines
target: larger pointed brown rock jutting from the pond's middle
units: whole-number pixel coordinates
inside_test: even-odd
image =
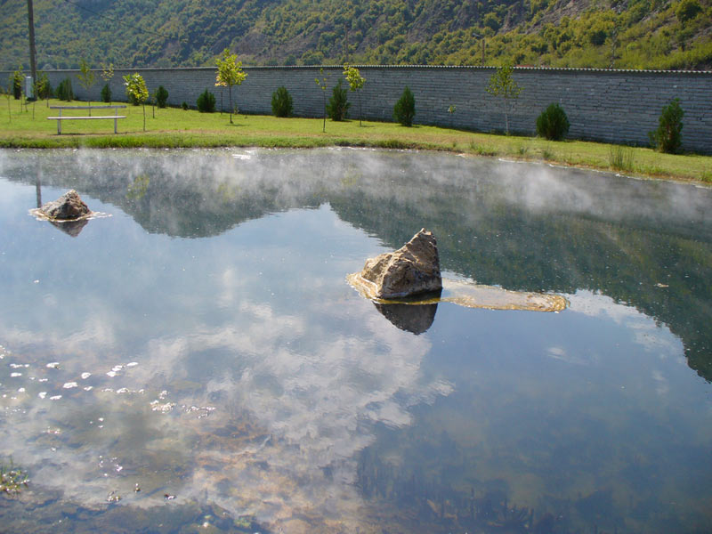
[[[425,228],[395,252],[366,260],[360,277],[374,297],[390,299],[441,291],[440,257],[433,233]]]

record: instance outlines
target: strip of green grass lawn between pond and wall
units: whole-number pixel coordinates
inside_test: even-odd
[[[6,99],[5,99],[6,100]],[[86,105],[87,102],[49,101],[50,105]],[[92,102],[98,105],[99,102]],[[94,110],[108,115],[113,109]],[[0,148],[178,148],[178,147],[292,147],[360,146],[389,149],[447,150],[474,156],[547,161],[553,164],[589,167],[642,177],[683,182],[712,183],[712,157],[661,154],[651,149],[621,147],[600,142],[549,142],[538,137],[478,134],[438,126],[405,127],[394,123],[358,120],[334,122],[327,119],[326,133],[320,118],[277,118],[271,116],[198,113],[189,109],[143,110],[128,106],[114,134],[112,120],[62,121],[57,134],[56,109],[46,102],[30,104],[0,101]],[[155,112],[155,117],[154,117]],[[84,111],[63,111],[86,115]]]

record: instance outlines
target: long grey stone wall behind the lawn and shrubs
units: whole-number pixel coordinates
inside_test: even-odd
[[[363,117],[392,120],[392,109],[409,85],[416,98],[416,123],[452,125],[480,132],[504,130],[504,115],[498,99],[485,92],[494,68],[489,67],[395,67],[359,66],[366,85],[361,92]],[[154,91],[166,87],[168,102],[183,101],[195,107],[198,94],[213,92],[217,106],[228,109],[228,90],[214,85],[215,69],[117,69],[110,87],[117,100],[125,100],[121,77],[140,72]],[[233,100],[242,113],[270,114],[271,94],[284,85],[292,94],[295,115],[320,117],[322,94],[314,83],[328,77],[330,87],[342,77],[340,67],[247,67],[247,80],[233,87]],[[79,85],[76,70],[48,71],[53,87],[70,77],[78,98],[87,94]],[[10,73],[0,72],[0,79]],[[103,82],[96,71],[92,100],[98,101]],[[603,142],[648,145],[648,132],[658,125],[661,109],[679,98],[684,109],[685,150],[712,153],[712,72],[514,69],[514,80],[523,87],[509,119],[510,130],[535,134],[536,118],[546,106],[558,102],[570,120],[570,137]],[[358,99],[350,94],[351,117],[358,117]],[[448,112],[454,105],[456,111]]]

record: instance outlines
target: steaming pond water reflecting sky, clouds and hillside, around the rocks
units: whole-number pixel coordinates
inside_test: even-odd
[[[110,216],[29,215],[68,189]],[[705,531],[709,206],[429,153],[0,151],[0,462],[31,478],[0,519]],[[345,277],[421,227],[446,276],[570,308],[409,329]]]

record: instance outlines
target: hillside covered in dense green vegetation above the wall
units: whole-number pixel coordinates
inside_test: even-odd
[[[712,0],[35,0],[37,66],[446,64],[711,69]],[[0,0],[0,69],[28,67]]]

